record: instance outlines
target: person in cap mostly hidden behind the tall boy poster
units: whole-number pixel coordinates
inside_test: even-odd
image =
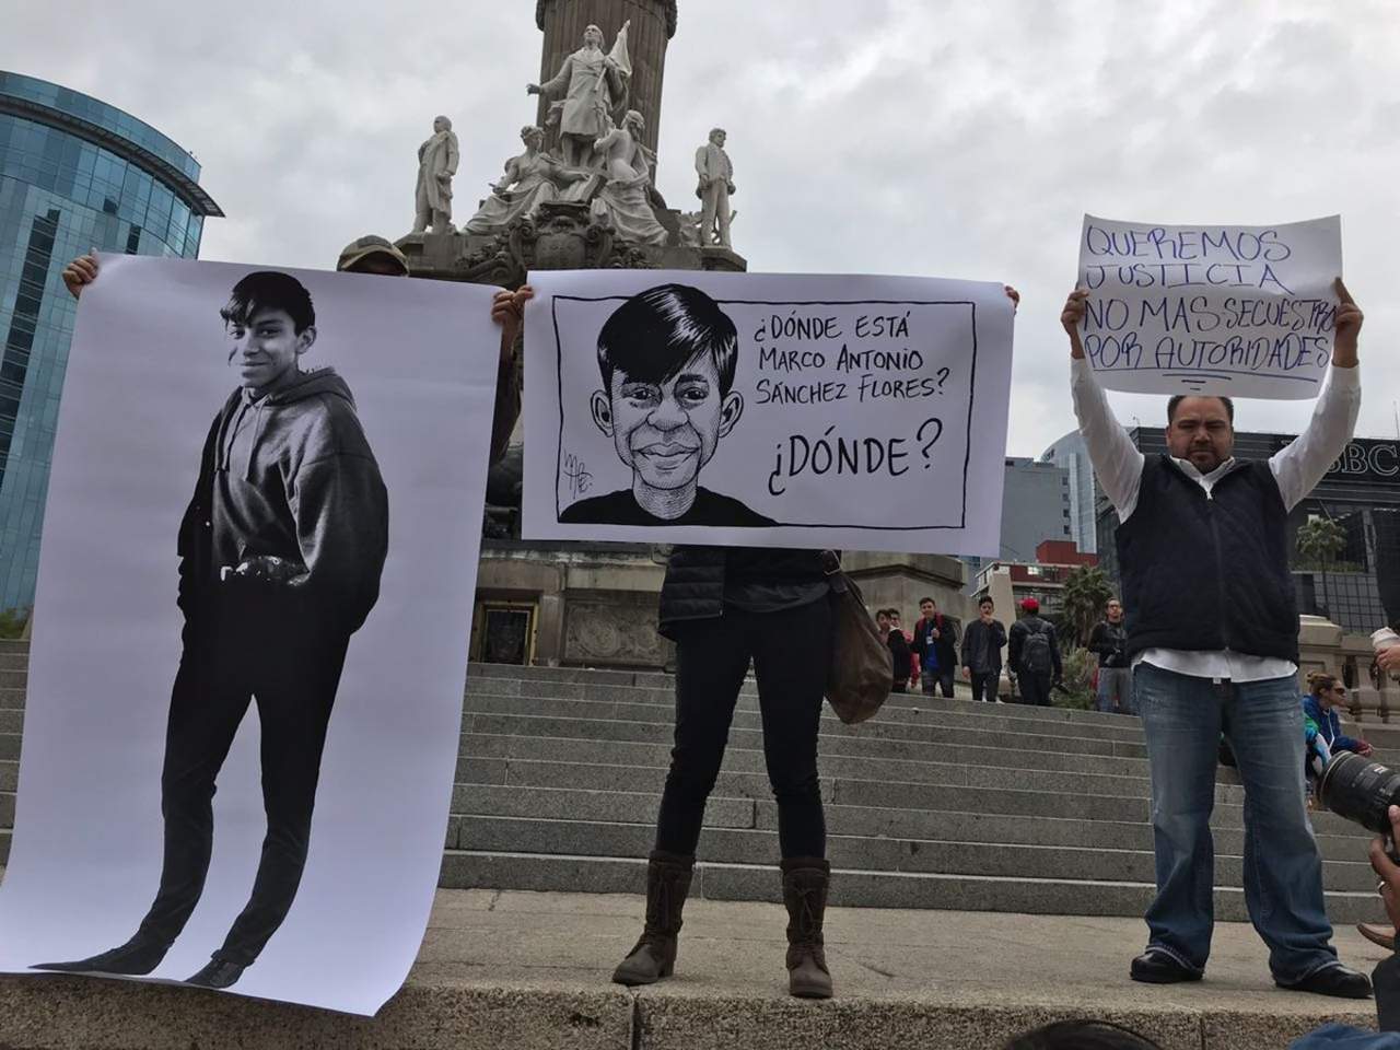
[[[344,246],[336,269],[346,273],[371,273],[382,277],[407,277],[409,260],[382,237],[370,234]],[[97,252],[81,255],[63,267],[63,283],[78,298],[83,288],[97,280]],[[535,297],[529,284],[515,291],[498,291],[491,301],[491,319],[501,326],[501,360],[496,374],[496,409],[491,416],[490,463],[498,463],[511,444],[511,433],[521,414],[519,340],[525,304]]]

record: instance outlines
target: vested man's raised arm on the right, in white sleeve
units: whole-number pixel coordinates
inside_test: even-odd
[[[1313,407],[1308,430],[1291,445],[1280,449],[1268,461],[1278,479],[1278,491],[1284,507],[1292,510],[1337,461],[1351,434],[1357,428],[1357,414],[1361,412],[1361,370],[1357,367],[1357,353],[1361,322],[1365,316],[1361,307],[1351,298],[1347,286],[1337,279],[1340,305],[1334,325],[1334,346],[1331,368],[1327,370],[1327,385],[1323,386],[1317,405]]]

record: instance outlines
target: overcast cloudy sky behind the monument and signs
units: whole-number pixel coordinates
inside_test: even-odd
[[[752,270],[1000,280],[1023,307],[1008,451],[1072,427],[1058,311],[1085,211],[1154,223],[1343,216],[1366,312],[1358,433],[1396,435],[1400,8],[1387,0],[679,0],[662,193],[729,130]],[[0,67],[130,111],[192,150],[228,218],[202,256],[328,267],[413,218],[433,116],[473,202],[535,116],[532,0],[0,0]],[[462,210],[462,209],[459,209]],[[1116,395],[1156,423],[1161,399]],[[1302,402],[1239,426],[1292,431]]]

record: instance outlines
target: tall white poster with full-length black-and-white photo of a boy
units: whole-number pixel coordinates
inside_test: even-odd
[[[99,263],[53,452],[0,970],[374,1014],[442,860],[494,290]]]

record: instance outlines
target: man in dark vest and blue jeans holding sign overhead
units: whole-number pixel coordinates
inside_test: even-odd
[[[1308,823],[1298,609],[1288,574],[1288,512],[1351,440],[1361,406],[1361,311],[1341,280],[1330,375],[1312,423],[1267,462],[1233,458],[1226,398],[1168,403],[1169,455],[1144,458],[1119,426],[1084,356],[1089,293],[1075,290],[1070,335],[1079,433],[1119,512],[1127,658],[1152,774],[1156,899],[1133,980],[1200,980],[1210,953],[1210,818],[1225,734],[1245,781],[1245,900],[1284,988],[1365,998],[1365,974],[1331,946],[1322,858]]]

